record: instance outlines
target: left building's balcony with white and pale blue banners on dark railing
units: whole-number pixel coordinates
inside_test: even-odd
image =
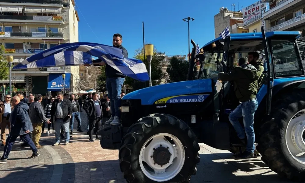
[[[3,34],[3,35],[2,35]],[[62,32],[0,32],[1,38],[12,38],[12,37],[25,37],[25,38],[61,38],[63,39]],[[22,38],[21,38],[22,39]]]

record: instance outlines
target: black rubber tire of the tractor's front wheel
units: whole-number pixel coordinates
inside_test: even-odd
[[[187,176],[179,182],[189,182],[190,177],[196,174],[196,164],[199,163],[200,158],[198,151],[200,150],[199,144],[195,133],[188,127],[188,125],[178,118],[167,115],[167,114],[150,114],[148,117],[143,117],[137,121],[137,123],[132,124],[129,127],[127,134],[123,137],[121,142],[121,148],[119,150],[119,159],[120,159],[120,169],[124,173],[124,178],[129,183],[138,183],[139,180],[135,178],[135,174],[139,172],[133,172],[131,167],[131,153],[132,147],[138,142],[138,138],[144,134],[145,131],[150,128],[155,128],[160,124],[168,123],[173,127],[179,127],[180,131],[187,133],[188,137],[193,142],[193,148],[196,150],[197,154],[194,157],[194,162],[191,170],[186,171]],[[144,174],[143,174],[144,175]],[[144,175],[145,176],[145,175]],[[154,181],[152,181],[154,182]],[[149,182],[147,182],[149,183]]]

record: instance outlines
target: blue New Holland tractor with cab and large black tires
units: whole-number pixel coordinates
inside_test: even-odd
[[[265,33],[262,27],[260,33],[216,38],[196,56],[192,41],[188,81],[125,95],[122,124],[103,125],[99,132],[102,148],[119,149],[120,168],[130,183],[189,182],[199,163],[198,142],[240,153],[244,147],[228,120],[239,105],[234,83],[223,82],[220,92],[215,83],[218,72],[230,72],[238,57],[258,52],[265,71],[254,122],[257,153],[277,174],[304,181],[305,73],[299,37],[299,32]],[[200,70],[191,80],[195,62]],[[211,62],[216,71],[207,73]]]

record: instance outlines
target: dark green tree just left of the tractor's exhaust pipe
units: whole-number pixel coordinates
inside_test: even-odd
[[[170,77],[171,82],[186,81],[188,75],[188,62],[178,60],[176,57],[170,59],[170,64],[167,66],[166,72]],[[192,79],[197,75],[197,68],[194,67]]]

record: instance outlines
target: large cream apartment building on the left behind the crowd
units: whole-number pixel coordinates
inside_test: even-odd
[[[13,56],[16,65],[48,48],[78,42],[79,17],[74,7],[74,0],[0,0],[4,56]],[[0,83],[8,86],[8,81]],[[75,93],[79,88],[79,66],[13,70],[12,83],[16,90],[27,88],[34,94],[55,95],[63,91],[63,85],[67,92]]]

